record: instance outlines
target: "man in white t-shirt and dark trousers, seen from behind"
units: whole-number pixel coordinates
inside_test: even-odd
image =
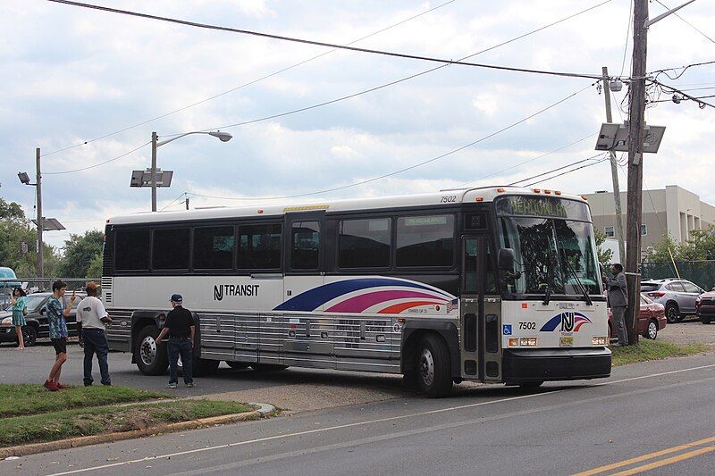
[[[87,283],[87,297],[77,305],[77,334],[80,336],[80,346],[84,347],[84,386],[89,387],[94,382],[92,378],[92,357],[97,354],[99,373],[102,375],[102,385],[112,385],[109,378],[109,343],[106,341],[105,324],[112,319],[105,311],[105,305],[97,298],[97,283]]]

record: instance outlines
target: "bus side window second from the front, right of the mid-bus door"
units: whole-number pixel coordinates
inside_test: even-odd
[[[341,221],[341,268],[390,266],[390,219]]]

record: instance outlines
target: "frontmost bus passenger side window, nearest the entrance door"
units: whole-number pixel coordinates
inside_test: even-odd
[[[401,217],[397,221],[397,265],[451,266],[454,215]]]

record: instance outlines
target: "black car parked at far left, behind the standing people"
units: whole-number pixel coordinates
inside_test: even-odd
[[[25,306],[28,314],[25,316],[27,325],[22,328],[22,336],[25,338],[25,346],[34,346],[38,338],[49,338],[49,327],[47,325],[47,301],[52,293],[35,293],[25,297]],[[63,296],[63,305],[70,302],[71,291]],[[70,337],[77,336],[77,305],[87,296],[85,292],[77,292],[77,299],[67,316],[67,332]],[[0,342],[17,342],[15,327],[13,326],[13,311],[11,306],[6,306],[0,312]]]

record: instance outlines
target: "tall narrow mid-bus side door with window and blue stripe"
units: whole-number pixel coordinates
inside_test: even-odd
[[[332,320],[322,315],[324,212],[286,213],[284,363],[334,368]]]

